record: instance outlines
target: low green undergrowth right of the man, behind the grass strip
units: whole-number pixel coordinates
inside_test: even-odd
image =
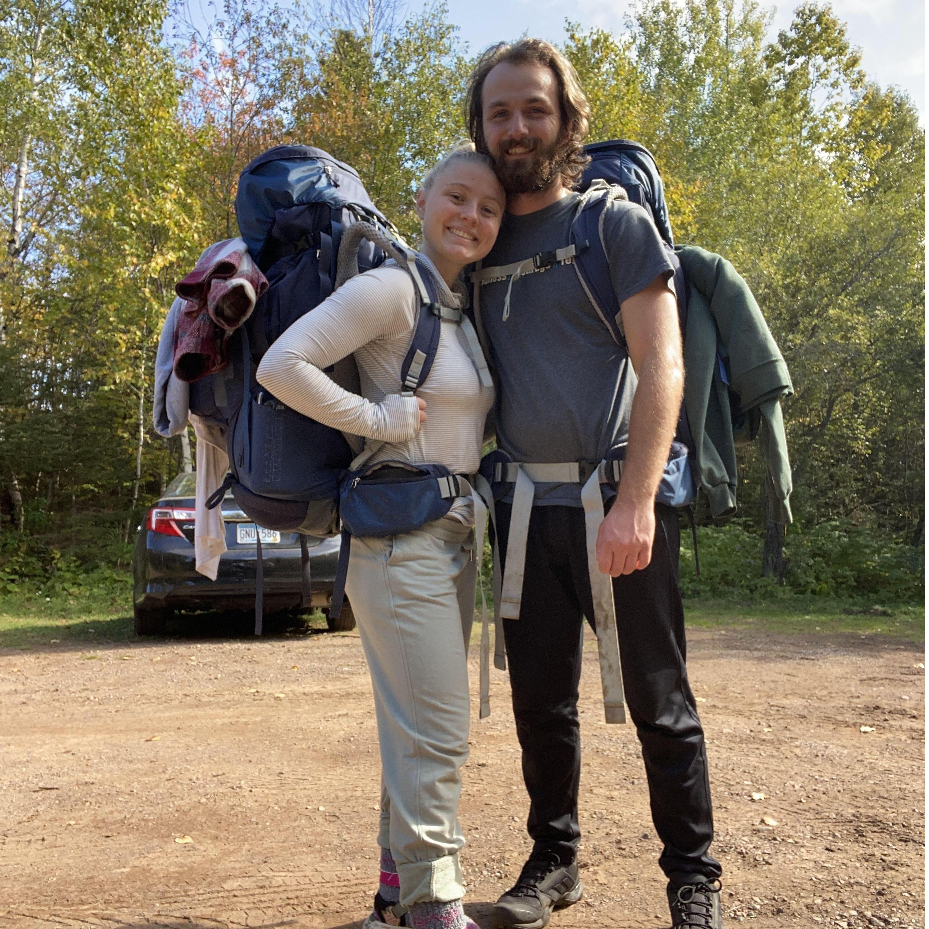
[[[764,539],[738,521],[697,530],[700,578],[693,543],[682,533],[681,591],[685,596],[775,598],[794,594],[881,597],[888,602],[922,601],[924,548],[914,548],[871,530],[839,523],[787,530],[784,577],[761,576]]]

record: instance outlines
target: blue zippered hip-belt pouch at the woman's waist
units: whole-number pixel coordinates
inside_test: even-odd
[[[339,516],[351,535],[399,535],[444,517],[457,489],[441,464],[368,464],[342,478]]]

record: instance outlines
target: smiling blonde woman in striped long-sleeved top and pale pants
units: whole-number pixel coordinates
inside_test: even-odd
[[[491,160],[465,144],[425,177],[421,273],[443,307],[460,308],[461,270],[487,255],[504,216]],[[456,292],[457,291],[457,292]],[[411,275],[387,262],[347,281],[296,321],[258,368],[294,410],[384,444],[369,463],[478,470],[492,386],[483,386],[461,326],[443,320],[432,370],[403,396],[400,366],[420,302]],[[353,354],[361,396],[323,370]],[[456,498],[418,530],[351,540],[346,590],[371,669],[381,749],[381,883],[365,929],[477,929],[464,916],[459,768],[467,758],[467,642],[474,614],[474,512]]]

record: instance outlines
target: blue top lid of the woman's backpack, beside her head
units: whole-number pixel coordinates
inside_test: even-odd
[[[322,149],[276,145],[246,165],[236,192],[239,232],[255,260],[274,225],[275,213],[303,203],[328,203],[334,209],[354,206],[387,225],[354,168]]]

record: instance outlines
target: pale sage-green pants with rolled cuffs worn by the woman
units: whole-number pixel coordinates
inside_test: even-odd
[[[346,593],[371,669],[381,744],[378,844],[397,862],[400,904],[464,896],[459,768],[467,760],[467,644],[479,553],[443,517],[353,538]]]

